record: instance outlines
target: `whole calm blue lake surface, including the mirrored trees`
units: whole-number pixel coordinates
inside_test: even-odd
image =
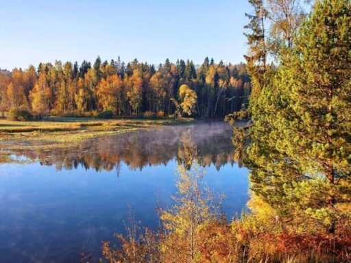
[[[223,211],[247,201],[247,169],[233,162],[226,123],[167,127],[106,136],[71,150],[21,151],[27,164],[0,165],[0,262],[79,262],[101,256],[101,241],[125,232],[128,207],[143,226],[156,206],[171,205],[177,164],[189,157],[204,180],[225,194]]]

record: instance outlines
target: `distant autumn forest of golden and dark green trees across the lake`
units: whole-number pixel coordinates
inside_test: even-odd
[[[250,95],[245,64],[203,64],[168,59],[157,68],[134,60],[125,64],[97,58],[93,64],[56,61],[38,68],[0,71],[0,111],[29,110],[37,116],[73,116],[106,110],[116,116],[169,116],[176,112],[178,91],[186,84],[196,92],[193,116],[221,118],[241,110]],[[175,103],[174,103],[175,102]]]

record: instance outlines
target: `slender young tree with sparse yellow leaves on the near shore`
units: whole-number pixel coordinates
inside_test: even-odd
[[[208,242],[208,236],[203,238],[201,232],[219,221],[221,198],[204,185],[205,171],[196,160],[190,169],[179,165],[178,174],[175,205],[160,211],[165,227],[165,236],[160,240],[163,262],[204,262],[202,245]]]

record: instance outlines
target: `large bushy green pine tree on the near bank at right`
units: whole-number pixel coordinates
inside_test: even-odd
[[[329,233],[351,208],[350,50],[350,1],[318,1],[252,107],[252,188]]]

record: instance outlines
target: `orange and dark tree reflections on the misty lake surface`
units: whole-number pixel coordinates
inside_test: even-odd
[[[197,124],[152,131],[105,136],[82,142],[76,149],[16,151],[16,155],[38,159],[57,169],[83,166],[96,171],[111,171],[124,162],[132,169],[167,164],[175,158],[189,167],[194,158],[199,164],[214,164],[219,169],[233,163],[230,127],[224,123]],[[197,155],[197,156],[195,156]]]

